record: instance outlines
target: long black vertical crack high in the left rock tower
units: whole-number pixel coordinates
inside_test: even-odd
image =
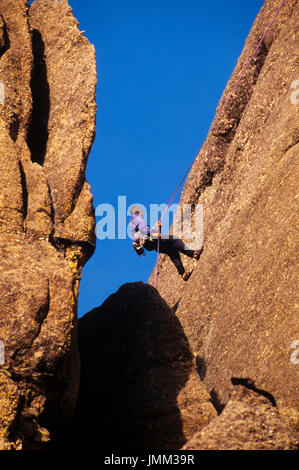
[[[32,115],[27,136],[31,160],[44,164],[48,141],[50,90],[45,60],[45,44],[37,29],[32,31],[33,69],[31,77]]]

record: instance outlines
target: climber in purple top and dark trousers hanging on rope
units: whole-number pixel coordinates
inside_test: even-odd
[[[169,256],[175,265],[179,275],[184,281],[190,277],[190,273],[185,271],[182,264],[180,253],[198,260],[202,250],[190,250],[180,238],[174,238],[172,235],[163,238],[160,231],[152,233],[150,226],[146,225],[142,210],[139,206],[135,205],[130,209],[132,217],[129,222],[129,228],[134,237],[133,248],[139,256],[145,256],[144,250],[157,251],[158,239],[159,251]]]

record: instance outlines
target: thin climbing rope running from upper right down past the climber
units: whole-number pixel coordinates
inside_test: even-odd
[[[283,7],[283,5],[284,5],[285,2],[286,2],[286,0],[282,0],[282,2],[280,3],[279,7],[277,8],[277,10],[276,10],[276,12],[275,12],[275,15],[274,15],[273,18],[271,19],[271,21],[270,21],[269,25],[267,26],[267,28],[266,28],[264,34],[262,35],[261,39],[259,40],[259,42],[258,42],[258,44],[257,44],[257,46],[256,46],[256,48],[255,48],[255,50],[254,50],[254,52],[253,52],[253,54],[252,54],[252,56],[250,57],[249,61],[248,61],[247,64],[245,65],[244,69],[241,71],[237,82],[235,83],[235,85],[234,85],[233,88],[232,88],[232,91],[229,93],[227,99],[225,100],[224,104],[223,104],[222,107],[220,108],[219,113],[218,113],[218,116],[217,116],[217,118],[214,120],[214,124],[212,125],[210,132],[213,130],[213,128],[215,127],[216,122],[219,120],[220,116],[223,114],[224,110],[226,109],[226,106],[227,106],[229,100],[231,99],[231,97],[232,97],[234,91],[236,90],[236,88],[238,87],[240,81],[242,80],[242,78],[244,77],[245,73],[247,72],[249,65],[251,64],[251,62],[253,61],[254,57],[256,56],[258,50],[260,49],[260,47],[261,47],[261,45],[262,45],[262,43],[263,43],[263,41],[264,41],[264,39],[265,39],[265,37],[266,37],[268,31],[269,31],[269,29],[272,27],[274,21],[276,20],[278,14],[279,14],[280,10],[282,9],[282,7]],[[198,152],[198,153],[199,153],[199,152]],[[154,228],[154,227],[157,225],[157,226],[158,226],[158,229],[159,229],[158,247],[157,247],[157,262],[156,262],[156,275],[155,275],[155,287],[157,287],[157,282],[158,282],[158,267],[159,267],[159,254],[160,254],[160,253],[159,253],[159,251],[160,251],[160,236],[161,236],[161,225],[162,225],[162,224],[161,224],[161,221],[162,221],[163,217],[165,216],[166,212],[168,211],[169,206],[170,206],[170,204],[172,203],[172,201],[174,200],[174,198],[175,198],[177,192],[179,191],[180,187],[182,186],[182,184],[183,184],[183,182],[184,182],[186,176],[188,175],[189,171],[191,170],[191,168],[192,168],[192,166],[193,166],[193,163],[195,162],[195,160],[196,160],[196,158],[197,158],[198,153],[195,155],[195,157],[194,157],[194,159],[192,160],[191,164],[189,165],[189,167],[188,167],[186,173],[184,174],[183,178],[182,178],[181,181],[179,182],[179,184],[178,184],[178,186],[177,186],[175,192],[174,192],[173,195],[171,196],[171,199],[170,199],[169,203],[168,203],[167,206],[165,207],[165,209],[164,209],[164,211],[163,211],[163,213],[162,213],[160,219],[159,219],[158,222],[156,222],[156,224],[153,226],[153,228]]]

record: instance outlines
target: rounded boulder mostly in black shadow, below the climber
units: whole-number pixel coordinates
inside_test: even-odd
[[[71,448],[179,449],[217,416],[181,325],[153,287],[122,286],[79,319],[78,340]]]

